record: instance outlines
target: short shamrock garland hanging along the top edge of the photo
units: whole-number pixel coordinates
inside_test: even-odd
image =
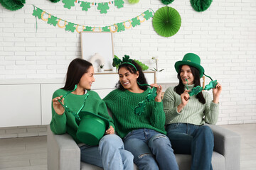
[[[114,0],[108,2],[87,2],[87,1],[78,1],[78,0],[63,0],[64,8],[70,9],[72,6],[75,6],[75,3],[80,4],[82,11],[88,11],[88,8],[92,6],[97,6],[97,9],[100,10],[100,13],[107,13],[107,10],[110,9],[109,4],[114,4],[117,8],[124,7],[124,0]]]

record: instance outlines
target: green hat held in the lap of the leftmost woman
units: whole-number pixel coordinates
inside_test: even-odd
[[[78,140],[91,146],[98,145],[105,130],[110,127],[110,121],[87,111],[81,111],[79,116],[81,120],[77,121],[79,127],[76,133]]]

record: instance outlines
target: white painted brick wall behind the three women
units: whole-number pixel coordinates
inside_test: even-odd
[[[124,8],[110,6],[107,14],[95,7],[70,10],[49,0],[26,0],[18,11],[0,6],[0,79],[63,78],[67,66],[81,57],[80,34],[65,32],[32,16],[33,6],[53,16],[86,26],[109,26],[127,21],[152,8],[164,6],[160,0],[141,0]],[[193,10],[189,0],[169,5],[180,13],[182,23],[176,35],[156,34],[150,19],[121,33],[114,33],[114,54],[149,64],[159,57],[161,82],[177,81],[174,63],[186,52],[201,57],[206,74],[223,85],[218,124],[256,123],[256,1],[214,0],[207,11]],[[149,64],[151,67],[154,65]],[[208,83],[208,79],[207,79]]]

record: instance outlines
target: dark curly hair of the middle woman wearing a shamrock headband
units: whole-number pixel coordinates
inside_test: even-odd
[[[136,67],[137,71],[139,72],[139,77],[137,78],[137,81],[139,82],[139,84],[147,84],[146,78],[144,73],[142,72],[142,67],[139,66],[139,64],[137,64],[137,62],[134,62],[134,60],[132,60],[132,64],[134,64],[134,66]],[[136,69],[131,65],[131,64],[120,64],[118,67],[118,71],[120,68],[124,67],[125,69],[127,69],[130,73],[132,74],[137,74]],[[138,86],[139,86],[138,84]],[[122,84],[120,83],[120,81],[118,81],[118,83],[115,86],[117,89],[124,91],[124,86],[122,86]],[[146,90],[147,86],[139,86],[139,89],[142,90]]]

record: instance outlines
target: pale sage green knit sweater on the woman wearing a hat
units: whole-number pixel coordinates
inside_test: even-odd
[[[193,85],[188,85],[188,89],[192,88]],[[210,94],[206,91],[203,91],[203,97],[206,99],[205,104],[199,102],[196,95],[190,96],[186,106],[178,113],[177,106],[181,103],[181,96],[174,91],[174,86],[166,89],[163,98],[166,125],[170,123],[191,123],[193,125],[217,123],[219,104],[213,103]]]

